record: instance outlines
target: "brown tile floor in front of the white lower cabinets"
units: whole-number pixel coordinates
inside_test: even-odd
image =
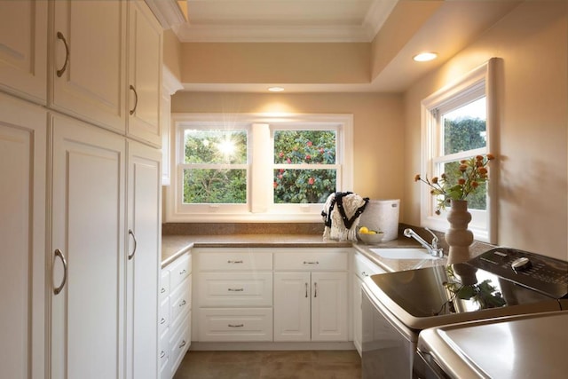
[[[189,351],[174,379],[360,379],[352,351]]]

